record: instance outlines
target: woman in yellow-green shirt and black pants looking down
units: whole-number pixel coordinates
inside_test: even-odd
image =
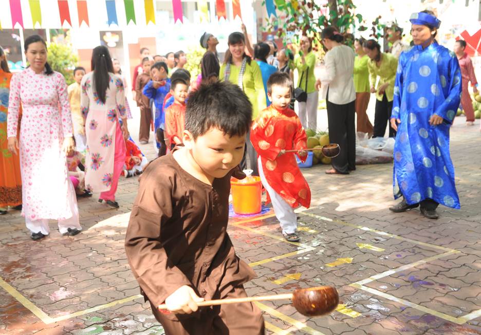
[[[371,76],[371,93],[376,93],[376,111],[374,114],[373,137],[384,137],[389,123],[389,137],[395,137],[396,131],[388,122],[391,118],[394,99],[394,82],[396,81],[397,58],[390,53],[381,52],[381,46],[375,40],[368,40],[362,45],[370,60],[367,62]],[[376,80],[379,76],[378,88]]]

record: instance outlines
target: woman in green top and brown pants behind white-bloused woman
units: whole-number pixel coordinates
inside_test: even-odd
[[[354,50],[357,53],[354,60],[354,88],[356,89],[357,131],[366,133],[371,138],[373,136],[373,125],[366,113],[371,97],[369,91],[371,87],[369,86],[369,70],[367,68],[369,57],[362,48],[365,41],[362,37],[354,40]]]

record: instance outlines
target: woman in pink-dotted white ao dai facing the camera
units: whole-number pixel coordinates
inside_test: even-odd
[[[22,216],[32,239],[49,234],[49,219],[58,220],[61,234],[76,235],[82,228],[67,170],[66,154],[74,147],[67,84],[47,63],[47,45],[41,36],[25,39],[25,55],[29,66],[10,82],[7,118],[8,150],[14,155],[20,152]]]

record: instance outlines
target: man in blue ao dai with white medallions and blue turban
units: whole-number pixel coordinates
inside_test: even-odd
[[[438,204],[459,209],[449,129],[460,102],[461,71],[456,55],[435,40],[440,21],[431,11],[410,19],[414,46],[401,53],[394,87],[391,124],[394,146],[394,197],[404,212],[420,206],[437,219]]]

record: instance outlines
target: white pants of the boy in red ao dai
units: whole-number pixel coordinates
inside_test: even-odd
[[[294,209],[284,200],[273,188],[270,187],[267,182],[264,171],[262,171],[261,157],[258,158],[259,176],[261,177],[262,184],[272,201],[272,207],[274,208],[275,217],[281,222],[281,228],[283,233],[292,234],[297,229],[297,215],[294,213]]]

